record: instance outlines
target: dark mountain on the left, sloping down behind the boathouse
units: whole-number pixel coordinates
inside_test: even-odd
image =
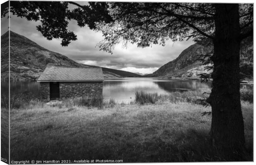
[[[8,78],[9,33],[1,36],[1,79]],[[36,42],[10,31],[10,78],[35,80],[47,64],[64,66],[95,67],[79,64],[68,57],[41,47]],[[105,77],[140,77],[135,73],[102,68]]]

